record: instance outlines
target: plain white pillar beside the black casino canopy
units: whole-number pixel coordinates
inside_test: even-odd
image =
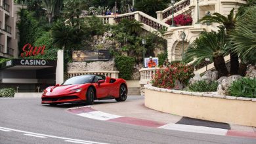
[[[58,50],[58,59],[56,66],[56,84],[62,84],[64,82],[64,52],[63,50]]]

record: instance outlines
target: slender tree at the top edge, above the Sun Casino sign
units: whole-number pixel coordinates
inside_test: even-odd
[[[43,0],[47,9],[47,17],[49,24],[53,21],[53,18],[58,15],[62,7],[64,0]]]

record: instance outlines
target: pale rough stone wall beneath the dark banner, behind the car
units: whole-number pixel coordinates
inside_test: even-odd
[[[114,61],[108,62],[72,62],[68,71],[114,71]]]

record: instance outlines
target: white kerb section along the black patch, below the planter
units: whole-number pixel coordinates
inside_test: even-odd
[[[159,128],[168,129],[168,130],[178,130],[184,132],[196,132],[202,134],[215,134],[215,135],[226,135],[228,130],[221,128],[209,128],[205,126],[191,126],[185,124],[166,124],[160,126]]]

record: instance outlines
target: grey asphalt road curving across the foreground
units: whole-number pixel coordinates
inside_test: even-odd
[[[139,98],[130,97],[127,101]],[[39,98],[0,98],[0,143],[256,143],[255,139],[242,137],[93,120],[66,111],[77,105],[51,107],[40,102]],[[103,102],[111,105],[114,101]]]

